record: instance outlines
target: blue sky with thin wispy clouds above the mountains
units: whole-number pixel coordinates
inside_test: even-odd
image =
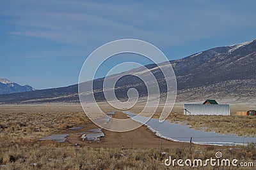
[[[14,0],[0,4],[0,77],[36,89],[77,83],[86,57],[116,39],[148,41],[173,60],[256,38],[256,1]],[[136,57],[129,60],[136,62]]]

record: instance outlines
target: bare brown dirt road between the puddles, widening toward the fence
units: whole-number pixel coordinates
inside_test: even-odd
[[[125,119],[128,118],[126,114],[116,111],[113,118]],[[90,124],[95,128],[96,126]],[[89,126],[87,126],[88,128]],[[79,129],[83,131],[83,129]],[[100,142],[88,142],[81,140],[81,134],[72,134],[68,136],[68,143],[77,143],[81,146],[95,146],[95,147],[106,147],[106,148],[166,148],[172,146],[184,146],[188,147],[189,143],[179,143],[174,141],[168,141],[157,137],[154,132],[150,131],[145,125],[142,125],[138,129],[134,129],[129,132],[112,132],[103,129],[105,134],[104,137],[100,138]]]

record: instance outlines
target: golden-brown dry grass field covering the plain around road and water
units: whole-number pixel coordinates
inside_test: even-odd
[[[255,125],[253,124],[255,117],[236,117],[233,114],[234,110],[230,117],[184,117],[180,106],[175,106],[173,114],[168,117],[169,120],[186,122],[195,128],[213,128],[214,131],[216,129],[221,131],[223,125],[230,128],[230,130],[227,127],[223,128],[221,131],[223,133],[233,132],[232,127],[236,129],[241,126],[243,128],[235,132],[255,135],[250,131],[253,128],[247,128],[250,124]],[[102,108],[106,112],[113,110],[104,104]],[[136,112],[136,110],[131,111]],[[172,156],[172,159],[204,160],[214,157],[217,151],[221,151],[225,159],[238,159],[244,162],[256,160],[256,148],[253,144],[248,146],[192,145],[190,152],[189,143],[174,142],[172,145],[164,145],[163,142],[161,146],[158,143],[156,147],[144,148],[129,146],[122,149],[120,145],[108,147],[102,145],[102,140],[107,140],[106,136],[100,141],[84,146],[70,142],[38,140],[50,134],[71,133],[68,129],[79,126],[92,127],[92,123],[79,104],[1,105],[0,169],[166,169],[164,160],[169,156]],[[150,143],[150,139],[148,140],[147,143]],[[81,143],[86,141],[81,140]],[[179,167],[172,167],[172,169],[179,169]],[[191,169],[191,167],[180,169]],[[205,167],[204,169],[214,168]],[[228,168],[225,167],[225,169]]]

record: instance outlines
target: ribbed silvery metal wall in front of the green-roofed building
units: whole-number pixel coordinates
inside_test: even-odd
[[[184,115],[230,115],[229,104],[184,104]]]

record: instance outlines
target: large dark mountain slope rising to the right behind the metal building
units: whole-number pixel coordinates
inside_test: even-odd
[[[116,82],[118,99],[127,99],[127,90],[134,87],[141,97],[147,96],[145,83],[131,74],[154,74],[162,96],[166,95],[166,83],[161,69],[172,65],[177,78],[177,101],[204,101],[204,99],[227,99],[251,102],[256,94],[256,40],[221,46],[198,52],[179,60],[170,60],[124,73],[108,76],[111,79],[124,74]],[[161,69],[159,68],[161,67]],[[93,92],[97,101],[104,101],[102,91],[105,78],[93,80]],[[89,85],[90,81],[84,82]],[[77,85],[55,89],[35,90],[19,94],[0,95],[0,103],[46,103],[79,102]]]

